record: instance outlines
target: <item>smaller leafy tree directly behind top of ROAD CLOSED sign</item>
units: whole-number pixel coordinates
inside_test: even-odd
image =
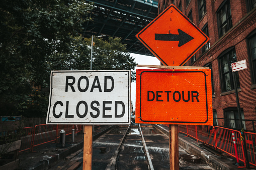
[[[54,53],[49,56],[50,70],[90,70],[92,39],[74,37],[68,53]],[[93,70],[133,70],[131,79],[135,80],[136,63],[126,50],[120,38],[109,37],[108,41],[94,39]],[[50,71],[49,70],[49,71]],[[49,74],[48,74],[49,75]]]

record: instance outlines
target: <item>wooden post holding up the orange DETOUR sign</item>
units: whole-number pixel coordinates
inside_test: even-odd
[[[178,124],[169,125],[170,169],[179,170]]]

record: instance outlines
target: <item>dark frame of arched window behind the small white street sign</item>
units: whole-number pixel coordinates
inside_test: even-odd
[[[231,63],[236,62],[237,58],[235,60],[230,60],[230,53],[232,53],[232,51],[235,52],[235,47],[228,48],[227,50],[222,52],[220,54],[220,56],[218,57],[220,83],[221,83],[221,92],[228,92],[228,91],[234,90],[234,81],[233,81]],[[234,54],[234,53],[232,53],[232,54]],[[228,57],[227,57],[227,59],[228,59],[228,71],[223,73],[224,67],[223,67],[223,62],[222,61],[223,61],[223,58],[226,57],[227,55],[228,55]],[[235,55],[236,55],[236,52],[235,52]],[[238,72],[235,72],[234,74],[236,74],[237,87],[240,87]],[[224,75],[229,75],[230,89],[225,89]]]

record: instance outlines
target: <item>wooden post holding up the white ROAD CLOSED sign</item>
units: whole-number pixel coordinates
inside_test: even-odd
[[[82,170],[92,169],[93,125],[84,125]]]

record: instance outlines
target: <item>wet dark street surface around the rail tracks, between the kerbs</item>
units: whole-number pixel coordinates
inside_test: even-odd
[[[169,169],[169,141],[168,136],[162,134],[156,128],[152,126],[142,126],[141,130],[144,133],[144,139],[152,160],[154,169]],[[93,142],[93,165],[92,169],[105,169],[110,162],[111,156],[117,149],[120,138],[122,138],[125,132],[125,128],[118,127],[112,131],[102,135],[97,140]],[[101,148],[105,148],[102,152]],[[198,156],[188,153],[182,147],[179,147],[180,155],[190,155],[192,158],[198,158]],[[83,153],[78,153],[75,157],[71,159],[82,162]],[[195,159],[196,160],[196,159]],[[67,162],[66,162],[67,163]],[[56,164],[53,168],[62,167],[63,162]],[[80,165],[78,170],[82,169]],[[138,127],[133,126],[130,128],[128,135],[124,141],[124,145],[120,151],[118,157],[117,169],[148,169],[148,164],[142,145],[142,140]],[[188,161],[180,156],[180,169],[211,169],[207,163],[205,163],[201,158],[198,161]]]

